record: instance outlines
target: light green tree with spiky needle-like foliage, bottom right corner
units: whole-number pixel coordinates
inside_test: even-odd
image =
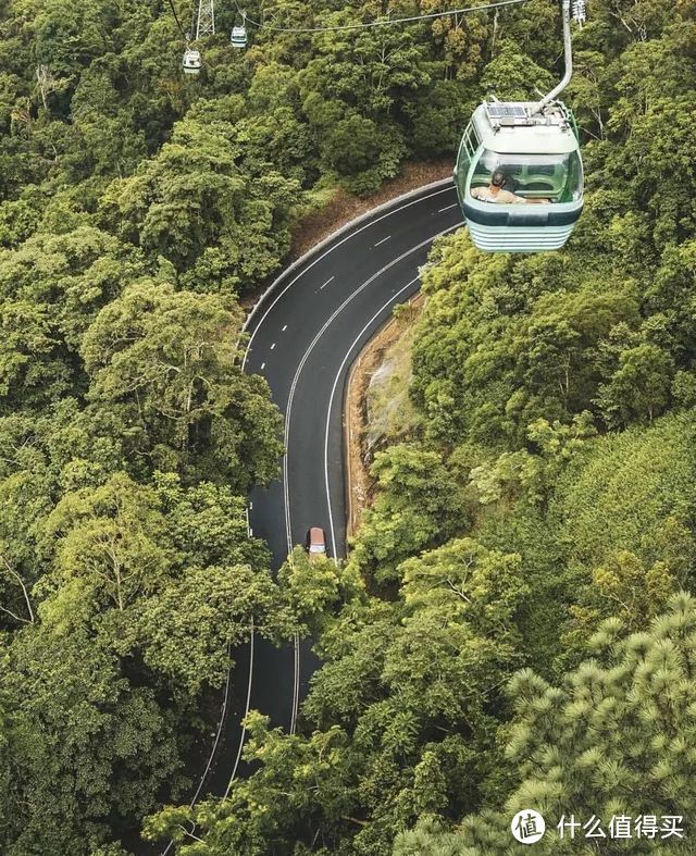
[[[547,832],[534,845],[539,853],[589,853],[591,843],[583,846],[579,833],[571,840],[568,827],[561,838],[556,824],[572,816],[583,821],[596,816],[608,829],[618,815],[657,815],[657,843],[633,834],[630,844],[614,843],[611,852],[667,847],[660,830],[661,816],[669,815],[681,816],[678,826],[686,836],[671,838],[669,852],[691,853],[695,627],[693,598],[682,593],[641,633],[627,635],[618,619],[606,621],[592,640],[595,658],[567,674],[559,686],[531,670],[515,675],[510,685],[515,715],[506,754],[519,784],[505,814],[464,818],[456,835],[460,852],[524,849],[512,845],[510,819],[534,806],[546,818]],[[426,831],[421,828],[421,836]],[[451,833],[431,833],[423,849],[417,848],[418,834],[405,835],[395,853],[436,853],[440,836],[444,847],[451,846]]]

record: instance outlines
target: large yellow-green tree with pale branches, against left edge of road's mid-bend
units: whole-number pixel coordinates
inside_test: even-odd
[[[279,417],[265,382],[238,365],[240,323],[231,299],[134,285],[85,334],[89,399],[119,415],[133,452],[157,468],[243,491],[266,482],[277,469]]]

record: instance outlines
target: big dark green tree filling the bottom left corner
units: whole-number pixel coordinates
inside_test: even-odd
[[[153,805],[179,767],[174,722],[113,654],[47,615],[0,677],[13,722],[2,849],[88,854]]]

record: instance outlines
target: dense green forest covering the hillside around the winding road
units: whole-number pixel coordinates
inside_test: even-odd
[[[239,369],[238,297],[315,200],[453,153],[490,91],[548,88],[558,12],[252,30],[244,54],[233,15],[190,80],[162,3],[0,3],[0,851],[116,856],[149,814],[188,856],[489,854],[527,801],[688,814],[692,4],[592,4],[571,244],[437,241],[418,419],[372,462],[347,566],[297,551],[277,584],[245,494],[281,422]],[[298,732],[252,711],[248,776],[177,808],[252,627],[313,634]]]

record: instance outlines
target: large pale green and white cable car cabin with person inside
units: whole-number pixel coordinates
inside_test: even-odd
[[[464,132],[455,181],[473,243],[489,252],[560,249],[583,210],[570,111],[555,101],[484,102]]]

